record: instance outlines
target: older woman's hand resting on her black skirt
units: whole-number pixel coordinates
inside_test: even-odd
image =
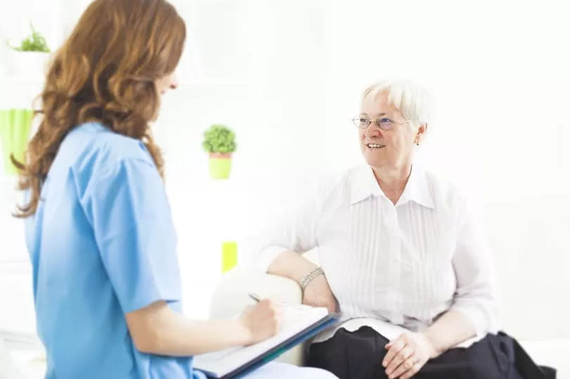
[[[440,353],[424,333],[407,332],[386,345],[382,366],[388,378],[412,378],[429,359]]]

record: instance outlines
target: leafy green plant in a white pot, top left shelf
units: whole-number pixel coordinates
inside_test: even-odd
[[[11,46],[8,41],[8,60],[11,60],[11,75],[25,79],[42,79],[49,60],[49,47],[42,34],[30,23],[32,34],[20,43]]]

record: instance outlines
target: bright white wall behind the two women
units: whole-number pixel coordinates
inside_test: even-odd
[[[49,3],[56,5],[20,1],[16,11],[42,22],[38,9],[53,12],[45,27],[61,41],[86,1]],[[570,319],[570,62],[564,51],[570,27],[562,5],[174,3],[191,34],[180,88],[167,94],[155,130],[167,160],[184,289],[193,299],[189,314],[207,312],[221,241],[239,240],[245,259],[247,237],[312,177],[360,162],[349,121],[360,92],[376,79],[405,77],[436,98],[436,117],[417,158],[484,205],[507,330],[570,338],[564,324]],[[7,3],[0,4],[4,10]],[[20,21],[4,17],[0,32],[17,30]],[[214,122],[238,136],[227,182],[208,179],[201,151],[201,133]],[[13,179],[0,182],[6,214]],[[19,227],[0,216],[0,257],[23,250]]]

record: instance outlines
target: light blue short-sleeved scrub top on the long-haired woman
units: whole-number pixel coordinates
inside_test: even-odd
[[[177,237],[144,144],[101,124],[76,127],[41,199],[26,242],[46,378],[204,378],[191,357],[137,351],[125,322],[158,300],[181,310]]]

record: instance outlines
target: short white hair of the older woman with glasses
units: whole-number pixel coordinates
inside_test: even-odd
[[[408,80],[384,80],[365,89],[362,105],[377,100],[381,95],[387,95],[388,103],[400,110],[407,120],[412,120],[412,129],[427,124],[431,113],[431,96],[426,89]]]

